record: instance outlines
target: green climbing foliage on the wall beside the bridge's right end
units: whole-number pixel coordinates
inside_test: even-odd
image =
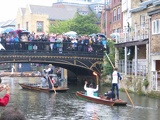
[[[115,61],[115,47],[114,47],[114,42],[110,39],[107,40],[107,45],[109,47],[110,53],[108,54],[112,64],[114,65]],[[113,67],[108,60],[107,56],[104,57],[104,63],[102,64],[103,70],[102,70],[102,76],[109,75],[113,71]]]

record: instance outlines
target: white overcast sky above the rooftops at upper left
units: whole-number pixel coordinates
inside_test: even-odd
[[[16,18],[17,10],[27,4],[51,6],[55,0],[2,0],[0,3],[0,22]]]

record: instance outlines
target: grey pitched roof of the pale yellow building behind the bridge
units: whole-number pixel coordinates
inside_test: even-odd
[[[88,5],[53,4],[52,6],[29,5],[32,14],[48,15],[50,20],[67,20],[77,12],[89,13]]]

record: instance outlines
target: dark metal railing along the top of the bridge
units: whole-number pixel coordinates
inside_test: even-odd
[[[3,48],[4,47],[4,48]],[[91,49],[90,49],[91,47]],[[71,54],[103,55],[105,48],[101,44],[78,44],[71,42],[1,42],[0,54]]]

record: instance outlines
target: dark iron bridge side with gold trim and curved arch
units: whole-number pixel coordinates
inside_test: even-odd
[[[100,64],[104,50],[102,45],[93,45],[93,51],[89,52],[84,44],[77,44],[76,49],[72,50],[67,49],[67,46],[73,45],[71,43],[58,43],[62,45],[56,49],[50,48],[50,45],[54,44],[51,42],[1,44],[5,46],[5,50],[0,51],[0,63],[52,63],[76,74],[91,74],[92,71],[101,73]],[[78,49],[78,46],[81,46],[81,49]]]

